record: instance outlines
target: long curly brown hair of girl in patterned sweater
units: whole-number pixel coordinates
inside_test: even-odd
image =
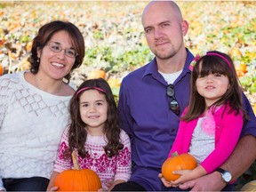
[[[104,147],[104,150],[108,157],[116,156],[118,151],[124,148],[124,145],[120,142],[121,129],[116,108],[116,101],[111,92],[111,88],[103,78],[84,81],[84,83],[78,87],[76,93],[73,95],[69,105],[71,117],[71,124],[68,131],[69,146],[65,153],[67,156],[70,156],[72,151],[76,148],[79,156],[85,157],[88,155],[84,148],[84,143],[87,137],[87,132],[85,130],[86,124],[84,124],[80,116],[79,102],[81,94],[90,89],[98,90],[100,94],[104,94],[108,102],[107,120],[103,128],[103,133],[106,136],[108,143]]]

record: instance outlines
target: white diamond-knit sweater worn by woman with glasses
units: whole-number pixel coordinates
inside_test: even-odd
[[[70,99],[28,84],[24,72],[0,77],[2,178],[50,178]]]

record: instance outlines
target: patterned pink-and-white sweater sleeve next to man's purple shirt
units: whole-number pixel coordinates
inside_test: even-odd
[[[129,136],[123,130],[121,131],[121,140],[124,148],[117,156],[115,180],[127,181],[132,173],[131,142]]]

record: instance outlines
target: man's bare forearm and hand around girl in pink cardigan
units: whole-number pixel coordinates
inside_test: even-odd
[[[232,180],[241,176],[256,159],[256,137],[245,135],[241,138],[232,155],[221,165],[221,168],[231,172]],[[220,191],[226,186],[221,180],[220,172],[212,172],[196,180],[189,180],[180,185],[180,188],[192,188],[193,191]]]

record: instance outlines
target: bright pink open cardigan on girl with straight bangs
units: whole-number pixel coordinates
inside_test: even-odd
[[[223,105],[213,114],[216,124],[215,149],[201,163],[207,173],[213,172],[228,159],[239,140],[243,127],[243,116],[241,113],[236,115],[235,111],[228,113],[229,109],[228,105]],[[189,122],[180,121],[179,131],[168,157],[172,156],[175,151],[178,154],[189,152],[188,149],[197,121],[198,118]]]

